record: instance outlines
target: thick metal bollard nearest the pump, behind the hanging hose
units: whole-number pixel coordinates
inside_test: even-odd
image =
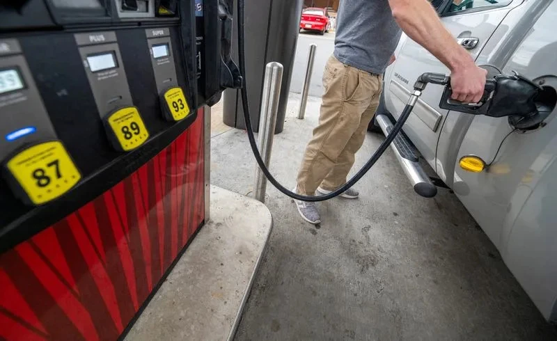
[[[278,100],[281,95],[283,81],[283,65],[271,62],[265,68],[265,81],[263,82],[263,94],[261,98],[261,112],[259,122],[258,148],[265,166],[269,167],[271,161],[271,150],[273,147],[274,129],[278,113]],[[253,198],[265,203],[265,192],[267,191],[267,177],[256,164],[256,182],[253,186]]]

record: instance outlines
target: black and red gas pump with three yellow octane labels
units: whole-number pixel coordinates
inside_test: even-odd
[[[185,251],[231,6],[0,1],[0,339],[115,340]]]

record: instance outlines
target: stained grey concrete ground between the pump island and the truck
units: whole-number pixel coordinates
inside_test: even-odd
[[[255,160],[246,133],[223,125],[221,104],[212,108],[211,183],[250,196]],[[320,99],[308,99],[304,120],[298,105],[291,94],[270,165],[289,188]],[[368,132],[356,170],[382,138]],[[453,193],[417,196],[390,149],[356,188],[357,200],[318,204],[314,226],[268,184],[274,225],[235,340],[557,339]]]

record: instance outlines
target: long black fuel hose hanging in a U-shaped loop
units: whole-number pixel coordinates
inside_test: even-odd
[[[361,168],[361,170],[359,170],[358,173],[356,173],[356,175],[354,175],[354,177],[352,177],[352,179],[346,182],[346,184],[344,184],[342,187],[339,187],[335,191],[332,191],[331,193],[324,196],[301,196],[297,193],[289,191],[288,189],[283,187],[278,181],[276,181],[273,175],[271,175],[271,173],[269,172],[269,169],[267,169],[267,167],[265,166],[265,162],[263,162],[261,158],[261,154],[259,153],[257,147],[256,138],[253,136],[253,129],[251,128],[251,118],[249,116],[249,104],[248,104],[248,96],[247,96],[247,89],[246,89],[246,60],[244,55],[245,52],[244,0],[237,0],[237,12],[238,12],[237,22],[238,22],[238,57],[239,57],[238,59],[240,61],[240,65],[239,65],[240,74],[242,74],[242,77],[244,77],[244,86],[240,91],[240,93],[242,93],[242,106],[244,109],[244,120],[246,123],[246,131],[249,138],[249,144],[251,145],[251,150],[253,152],[253,156],[256,157],[256,161],[259,167],[261,168],[263,174],[265,174],[265,177],[267,177],[269,182],[271,182],[273,186],[276,187],[276,189],[278,189],[278,191],[281,191],[285,195],[289,196],[290,198],[294,198],[296,200],[308,201],[308,202],[324,201],[324,200],[329,200],[331,198],[334,198],[340,195],[341,193],[344,193],[347,189],[350,189],[350,187],[354,186],[354,184],[356,184],[356,182],[358,182],[361,179],[361,177],[363,177],[363,175],[368,173],[368,170],[372,168],[372,166],[375,164],[375,162],[377,162],[379,157],[381,157],[382,154],[385,152],[385,150],[389,148],[389,145],[391,144],[391,142],[393,142],[397,134],[400,132],[400,129],[402,129],[402,126],[405,124],[408,116],[412,112],[412,109],[414,109],[414,105],[407,104],[407,106],[405,106],[405,109],[402,111],[402,114],[398,118],[398,121],[396,122],[395,126],[393,127],[389,135],[386,136],[385,140],[381,143],[381,145],[379,145],[379,148],[377,148],[377,150],[369,159],[369,161]]]

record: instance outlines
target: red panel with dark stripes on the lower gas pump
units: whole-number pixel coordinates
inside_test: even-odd
[[[122,182],[0,255],[0,340],[116,340],[204,220],[203,109]]]

